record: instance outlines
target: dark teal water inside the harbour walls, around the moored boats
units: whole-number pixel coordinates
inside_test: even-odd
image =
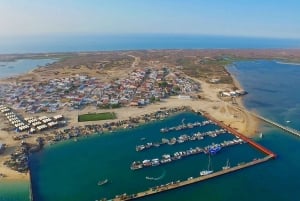
[[[116,194],[136,193],[147,190],[160,184],[171,181],[187,179],[190,176],[198,176],[199,172],[207,168],[208,157],[204,154],[169,163],[166,165],[145,168],[142,170],[130,170],[130,164],[134,160],[160,158],[164,153],[184,151],[190,147],[204,147],[212,142],[218,143],[233,139],[230,134],[222,134],[216,138],[207,137],[202,141],[188,142],[173,146],[161,146],[143,152],[136,152],[135,146],[145,143],[140,139],[145,137],[146,141],[160,141],[162,137],[171,138],[181,134],[191,134],[197,131],[205,132],[218,128],[208,125],[180,132],[162,134],[160,128],[175,126],[185,122],[202,121],[203,117],[193,113],[181,113],[164,121],[151,123],[140,128],[116,132],[103,136],[93,136],[81,139],[80,143],[60,143],[34,154],[31,157],[30,168],[33,178],[33,193],[35,200],[96,200],[103,197],[112,198]],[[239,162],[250,161],[253,158],[263,156],[262,153],[247,144],[228,147],[212,157],[214,170],[221,169],[229,159],[232,165]],[[261,168],[260,166],[257,168]],[[158,181],[146,180],[146,176],[165,176]],[[97,182],[108,178],[111,183],[98,186]],[[204,182],[206,183],[206,182]],[[203,184],[204,184],[203,183]],[[203,184],[196,184],[202,186]],[[192,187],[195,188],[195,187]],[[189,188],[179,191],[189,191]],[[165,199],[174,200],[178,195],[175,192],[165,193]],[[184,199],[184,195],[180,196]],[[162,195],[164,196],[164,195]],[[147,198],[157,199],[156,196]]]

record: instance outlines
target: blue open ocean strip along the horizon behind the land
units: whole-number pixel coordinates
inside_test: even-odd
[[[204,48],[300,48],[300,39],[176,34],[52,35],[0,38],[0,54]]]

